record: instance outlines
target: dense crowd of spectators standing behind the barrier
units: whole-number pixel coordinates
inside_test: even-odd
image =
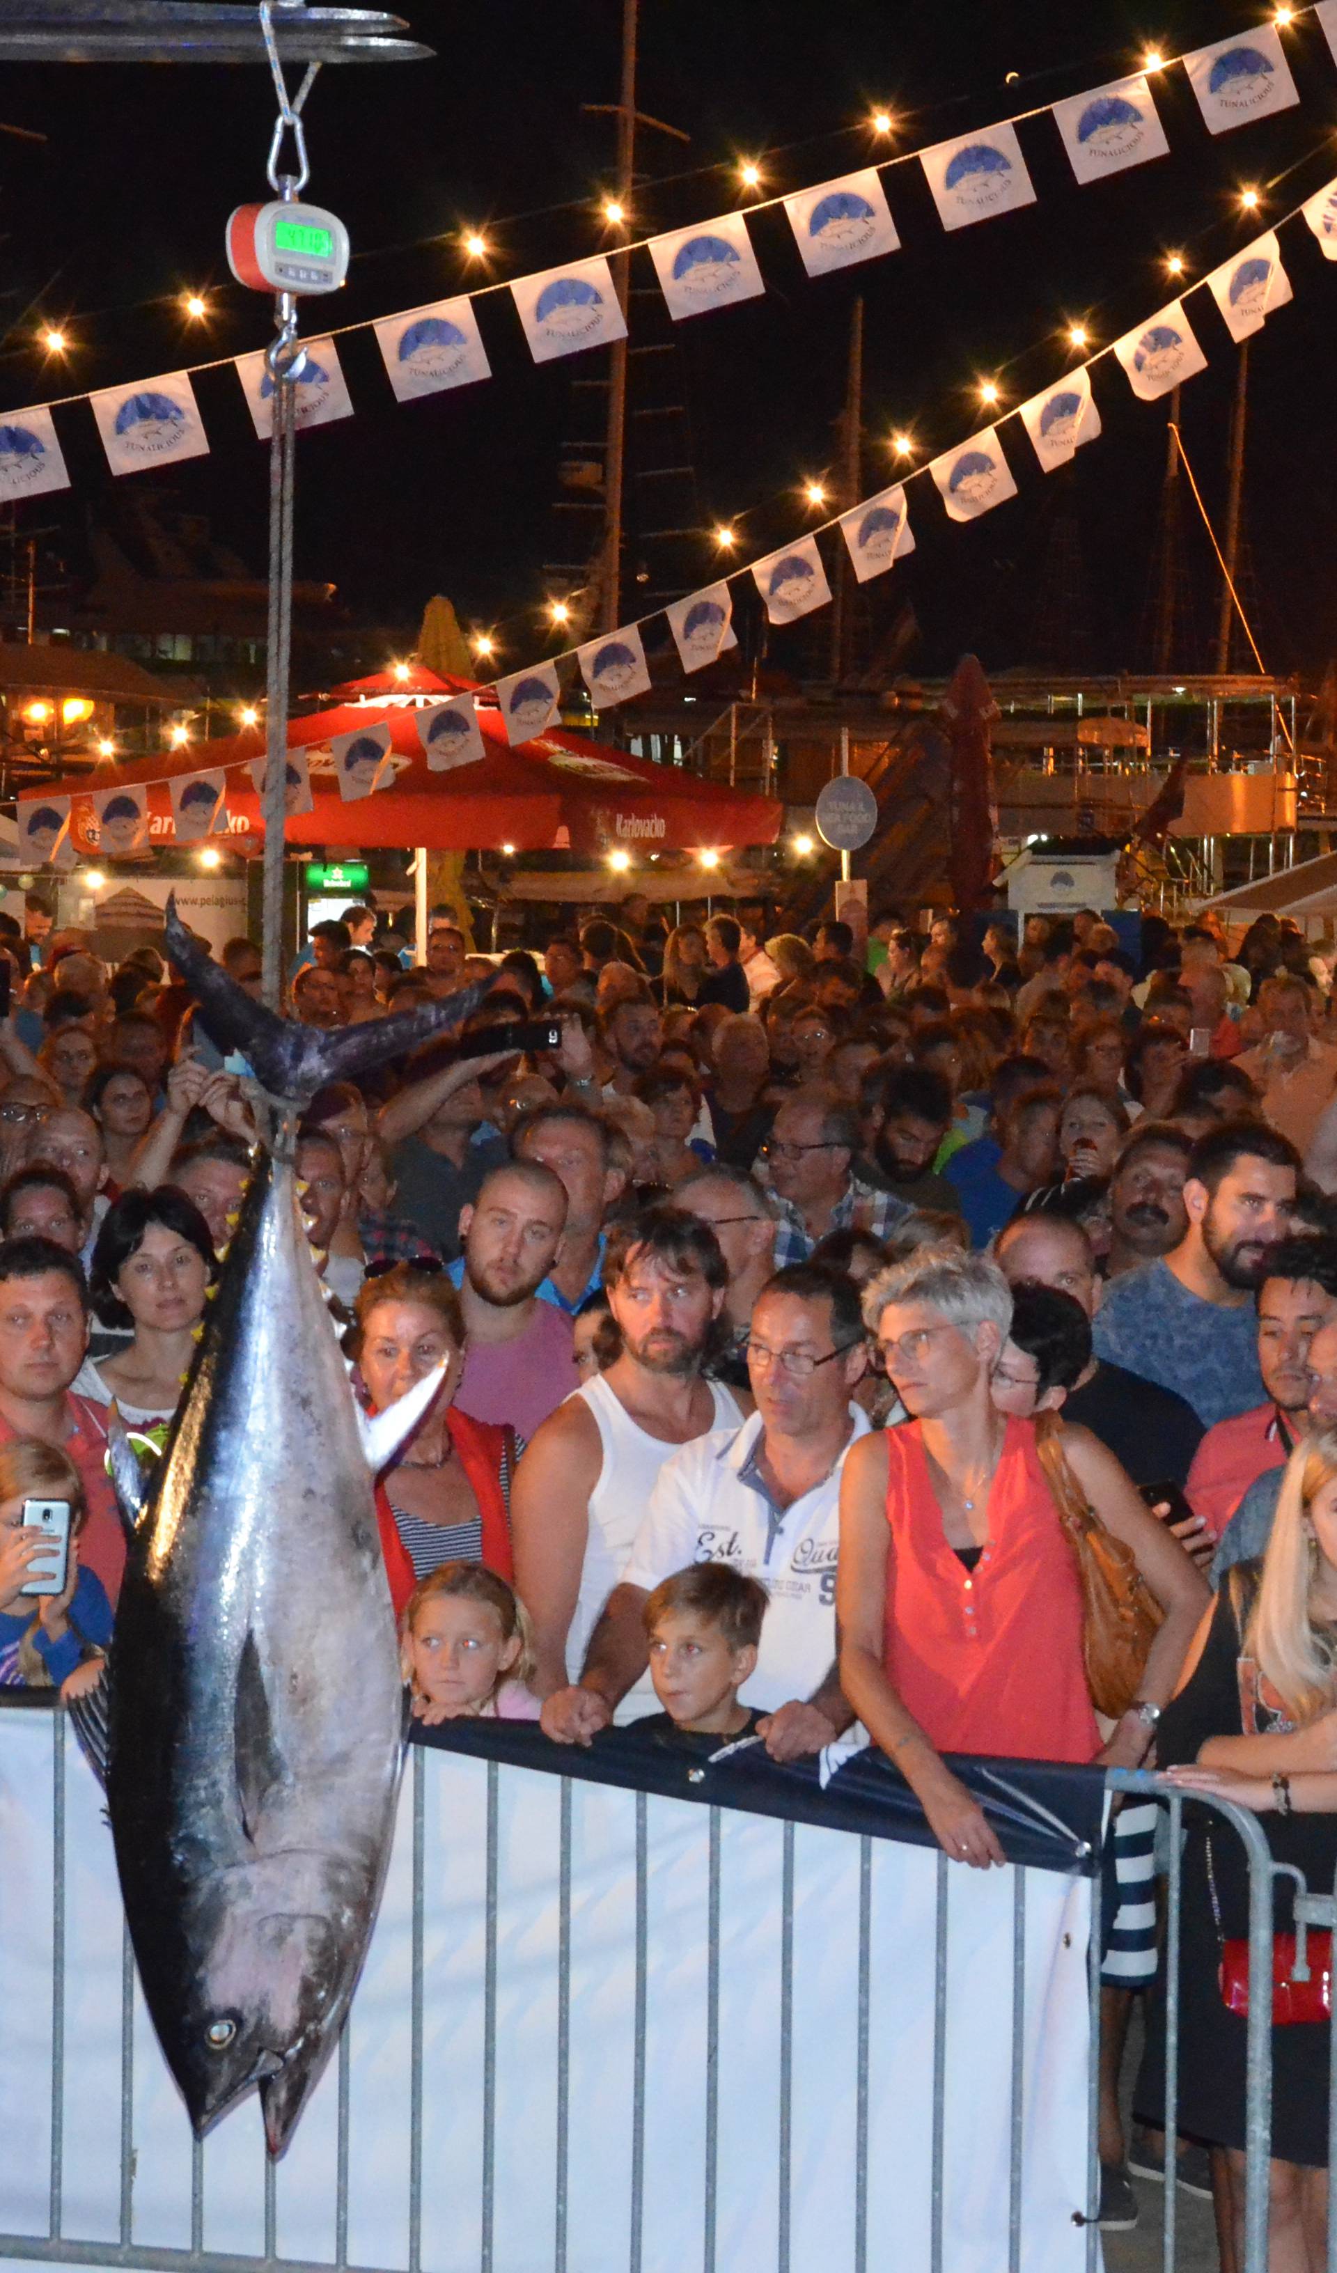
[[[1328,971],[1267,918],[1235,950],[1210,921],[1126,939],[1091,911],[798,936],[764,902],[664,930],[628,900],[500,957],[441,909],[414,966],[371,907],[314,927],[289,975],[307,1025],[487,977],[475,1050],[514,1021],[559,1032],[532,1055],[432,1041],[321,1091],[296,1139],[352,1393],[382,1409],[443,1368],[377,1480],[423,1723],[530,1718],[575,1746],[639,1723],[775,1762],[862,1730],[975,1868],[1003,1843],[953,1755],[1160,1764],[1330,1882]],[[34,896],[0,955],[0,1682],[75,1696],[125,1559],[107,1409],[161,1441],[255,1130],[152,948],[109,968]],[[221,961],[259,989],[248,939]],[[59,1593],[30,1580],[34,1496],[70,1502]],[[1116,1712],[1073,1509],[1151,1605]],[[1132,2143],[1116,2089],[1157,1973],[1155,1816],[1126,1805],[1110,1846],[1107,2225],[1132,2223],[1128,2164],[1166,2175],[1151,2053]],[[1214,1982],[1246,1884],[1226,1848],[1194,1830],[1185,1852],[1169,2175],[1214,2189],[1230,2268],[1244,2021]],[[1326,2032],[1276,2037],[1271,2264],[1317,2273]]]

